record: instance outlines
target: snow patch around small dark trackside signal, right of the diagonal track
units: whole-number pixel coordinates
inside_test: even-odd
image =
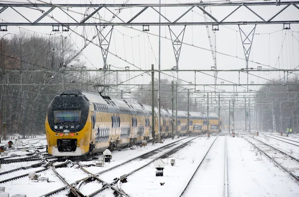
[[[216,137],[198,138],[189,145],[163,159],[165,163],[164,176],[156,177],[153,164],[128,177],[128,183],[122,184],[122,189],[130,197],[175,197],[182,190],[193,172],[201,162],[207,149]],[[170,159],[175,159],[175,165],[170,165]],[[163,186],[160,183],[165,183]],[[197,196],[197,195],[196,195]]]

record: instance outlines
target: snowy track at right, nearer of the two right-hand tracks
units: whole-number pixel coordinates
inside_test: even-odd
[[[274,148],[254,137],[244,138],[259,151],[290,174],[296,181],[299,181],[299,160],[281,150]]]

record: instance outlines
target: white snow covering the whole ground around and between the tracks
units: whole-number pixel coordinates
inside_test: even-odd
[[[191,177],[195,167],[197,167],[197,163],[200,162],[203,154],[208,149],[214,138],[214,136],[211,136],[210,139],[203,137],[195,139],[190,146],[187,146],[172,155],[170,158],[175,158],[175,166],[170,165],[170,158],[163,160],[166,164],[164,169],[164,177],[155,177],[156,169],[153,167],[153,165],[150,165],[143,170],[129,176],[128,183],[122,184],[122,189],[131,197],[177,196],[182,189],[182,185],[187,183],[187,180]],[[218,138],[219,139],[217,139],[215,142],[216,144],[214,144],[211,148],[211,154],[207,155],[207,160],[202,164],[202,167],[200,167],[200,174],[196,175],[196,177],[200,179],[200,181],[195,183],[195,185],[197,184],[198,191],[195,194],[190,194],[190,196],[204,196],[204,194],[206,194],[206,196],[213,197],[216,196],[216,194],[218,196],[218,194],[222,194],[223,192],[223,185],[221,183],[224,183],[222,176],[224,173],[224,170],[222,171],[222,165],[224,165],[224,156],[222,155],[224,154],[224,142],[222,140],[224,137],[219,136]],[[259,136],[259,138],[263,139],[262,136]],[[36,142],[40,144],[46,143],[45,140],[39,139],[36,141],[32,139],[25,139],[22,141],[23,143],[29,141],[28,143],[31,145],[35,144]],[[149,145],[145,148],[136,147],[136,150],[126,149],[122,151],[114,151],[112,152],[113,161],[110,164],[106,164],[106,167],[89,167],[86,169],[93,173],[97,173],[173,141],[174,140],[166,139],[163,144],[155,144],[152,146],[151,143],[149,143]],[[7,142],[8,141],[2,141],[4,144],[7,144]],[[247,143],[243,138],[232,138],[231,136],[228,136],[227,142],[230,197],[299,196],[298,183],[290,178],[290,176],[283,170],[276,167],[275,164],[263,154],[255,151],[252,145]],[[270,142],[272,143],[271,145],[276,145],[278,143],[274,139],[271,140],[269,138],[267,143]],[[279,145],[276,146],[280,148],[283,147],[290,152],[290,145],[287,143],[279,142]],[[223,150],[221,147],[223,147]],[[295,148],[293,151],[293,155],[295,155],[295,153],[299,153],[299,150]],[[21,153],[22,151],[18,152]],[[88,164],[94,163],[94,161],[82,163]],[[24,162],[24,165],[27,164],[31,163]],[[9,165],[11,165],[11,167],[8,167]],[[19,168],[22,164],[14,163],[9,165],[2,165],[1,168],[3,169],[1,169],[1,172]],[[66,176],[69,183],[79,180],[82,177],[81,173],[83,173],[83,171],[79,171],[79,169],[78,171],[76,171],[76,169],[74,171],[72,168],[61,168],[59,171]],[[40,174],[41,176],[48,177],[50,183],[32,182],[29,181],[28,177],[24,177],[12,182],[0,184],[0,187],[5,187],[5,192],[9,192],[10,196],[13,194],[26,194],[27,197],[39,197],[53,190],[64,187],[64,184],[56,177],[52,170],[46,170]],[[125,172],[121,175],[123,174],[125,174]],[[85,176],[88,175],[85,174]],[[0,179],[3,180],[2,176]],[[160,182],[165,182],[165,184],[160,186]],[[216,186],[218,186],[218,188],[216,188]],[[88,194],[91,188],[93,188],[92,190],[95,191],[94,187],[100,189],[101,184],[95,182],[93,184],[80,187],[80,190],[84,194]],[[113,192],[110,189],[105,190],[103,193],[97,195],[97,197],[114,197],[112,193]],[[199,195],[199,193],[201,195]],[[59,193],[58,195],[55,195],[55,197],[65,197],[66,194],[67,192]]]

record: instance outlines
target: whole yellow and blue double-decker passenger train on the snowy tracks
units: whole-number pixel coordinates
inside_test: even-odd
[[[157,135],[157,108],[155,135]],[[161,109],[162,137],[172,135],[171,110]],[[45,121],[47,151],[55,157],[82,156],[150,140],[151,106],[80,90],[65,90],[50,103]],[[189,112],[189,135],[221,131],[215,113]],[[177,111],[178,135],[187,135],[187,112]],[[209,126],[209,129],[208,129]]]

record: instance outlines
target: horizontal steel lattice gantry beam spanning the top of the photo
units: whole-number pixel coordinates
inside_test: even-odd
[[[217,16],[210,14],[206,11],[205,7],[232,7],[233,10],[228,9],[225,16],[222,18],[217,18]],[[259,11],[255,11],[255,7],[259,6],[263,9],[258,9]],[[276,12],[272,16],[264,16],[267,18],[263,18],[262,15],[265,15],[265,10],[269,9],[271,6],[279,6],[281,7],[278,12]],[[8,17],[6,20],[2,20],[0,22],[1,29],[3,27],[7,28],[7,26],[17,25],[17,26],[63,26],[64,28],[70,26],[84,26],[84,25],[130,25],[130,26],[137,26],[143,25],[145,27],[149,27],[150,25],[233,25],[233,24],[291,24],[291,23],[299,23],[298,19],[292,20],[292,14],[288,14],[290,18],[286,18],[285,20],[279,20],[279,15],[285,12],[288,7],[296,7],[299,9],[299,1],[280,1],[277,0],[276,2],[269,2],[269,1],[262,1],[262,2],[220,2],[220,3],[173,3],[173,4],[51,4],[51,3],[0,3],[0,18],[3,19],[7,11],[12,11],[14,14],[21,16],[22,21],[13,21],[14,17]],[[26,9],[25,11],[20,11],[21,9]],[[174,20],[168,18],[168,16],[163,15],[158,11],[159,7],[186,7],[188,8],[183,13],[172,12],[171,14],[174,15]],[[257,17],[248,16],[246,20],[243,21],[233,21],[231,20],[233,13],[237,11],[239,8],[245,7],[247,10],[252,12]],[[90,13],[79,13],[81,19],[76,19],[74,16],[78,14],[78,12],[71,12],[72,9],[75,8],[91,8],[92,11]],[[130,12],[130,9],[137,9],[137,13],[134,15],[130,14],[119,14],[120,12]],[[9,10],[10,9],[10,10]],[[61,13],[65,15],[59,15],[55,17],[55,14],[52,14],[54,10],[60,9]],[[147,12],[148,10],[153,10],[157,17],[153,17],[152,12]],[[39,13],[36,18],[32,19],[32,12],[33,10]],[[98,14],[101,15],[102,11],[108,11],[113,14],[114,19],[106,21],[106,20],[99,20],[99,22],[94,22],[90,20],[91,18],[96,18]],[[117,12],[116,12],[117,10]],[[202,21],[202,22],[195,22],[195,21],[185,21],[181,20],[181,18],[189,13],[191,10],[201,10],[207,16],[210,17],[211,20],[209,21]],[[288,10],[287,10],[288,11]],[[299,11],[299,10],[298,10]],[[11,13],[11,12],[10,12]],[[165,19],[165,22],[159,22],[158,16]],[[126,15],[126,17],[125,17]],[[44,18],[50,18],[49,22],[42,22]],[[140,18],[141,17],[141,18]],[[129,19],[128,19],[129,18]],[[137,20],[142,20],[142,18],[156,18],[156,22],[137,22]],[[258,18],[258,20],[257,20]],[[98,18],[99,19],[99,18]],[[154,20],[154,19],[153,19]],[[148,29],[145,29],[148,30]]]

